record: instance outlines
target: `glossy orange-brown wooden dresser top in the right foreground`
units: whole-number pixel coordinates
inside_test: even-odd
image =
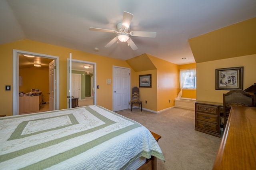
[[[256,169],[256,107],[232,106],[213,170]]]

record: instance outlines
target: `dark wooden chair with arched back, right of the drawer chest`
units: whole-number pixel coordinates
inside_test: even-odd
[[[224,129],[226,127],[232,105],[254,106],[254,95],[250,95],[243,90],[230,90],[228,93],[223,94]]]

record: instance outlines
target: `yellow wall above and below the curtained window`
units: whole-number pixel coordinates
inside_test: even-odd
[[[179,65],[179,69],[196,69],[196,63]],[[197,72],[197,70],[196,70],[196,72]],[[178,90],[180,91],[180,85],[179,85],[178,88],[179,88]],[[196,90],[194,90],[194,89],[182,89],[182,96],[181,97],[188,97],[188,98],[196,99]]]

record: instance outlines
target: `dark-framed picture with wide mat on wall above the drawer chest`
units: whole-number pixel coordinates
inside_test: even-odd
[[[216,69],[216,90],[243,90],[243,70],[244,67],[231,67]]]

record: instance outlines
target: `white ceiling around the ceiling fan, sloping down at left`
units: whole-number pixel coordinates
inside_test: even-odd
[[[116,30],[124,11],[134,15],[131,31],[156,38],[131,37],[135,51],[121,42],[104,47],[116,34],[89,28]],[[188,39],[254,17],[256,0],[0,0],[0,44],[30,39],[122,60],[147,53],[180,65],[195,62]]]

